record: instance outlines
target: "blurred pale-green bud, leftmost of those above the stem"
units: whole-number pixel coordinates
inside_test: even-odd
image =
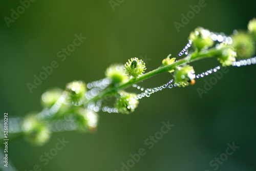
[[[50,89],[41,96],[41,104],[45,108],[53,106],[62,95],[61,89]]]

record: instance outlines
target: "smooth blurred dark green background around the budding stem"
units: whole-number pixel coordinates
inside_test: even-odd
[[[255,17],[255,1],[208,1],[178,33],[174,22],[199,1],[124,1],[115,6],[105,1],[35,1],[8,28],[0,20],[1,111],[9,117],[40,111],[40,96],[49,88],[65,88],[72,80],[94,81],[104,77],[112,63],[147,56],[147,71],[161,64],[168,54],[176,56],[186,45],[190,31],[202,26],[231,34],[247,29]],[[11,16],[18,1],[2,0],[0,16]],[[87,39],[65,61],[56,53],[82,33]],[[30,93],[26,83],[42,72],[52,60],[59,67]],[[219,65],[216,59],[192,64],[197,73]],[[143,147],[147,154],[131,170],[213,170],[209,161],[225,153],[227,143],[240,146],[218,170],[256,170],[255,159],[255,74],[256,66],[229,67],[229,72],[200,98],[194,86],[165,89],[140,100],[131,115],[99,112],[96,134],[62,132],[50,142],[34,147],[23,139],[9,144],[9,159],[18,170],[121,170]],[[152,88],[172,78],[163,73],[139,85]],[[129,89],[135,91],[135,89]],[[137,91],[138,92],[138,91]],[[110,104],[111,105],[111,104]],[[3,118],[2,116],[0,117]],[[160,130],[162,121],[175,124],[154,148],[144,140]],[[69,144],[44,166],[39,156],[55,146],[57,138]]]

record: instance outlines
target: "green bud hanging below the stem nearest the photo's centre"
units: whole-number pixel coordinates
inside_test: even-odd
[[[115,102],[115,108],[122,114],[130,114],[134,112],[139,104],[139,100],[135,98],[136,96],[137,95],[134,93],[120,92]]]

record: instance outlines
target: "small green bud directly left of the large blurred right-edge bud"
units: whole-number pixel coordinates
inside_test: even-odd
[[[225,48],[227,47],[227,48]],[[217,56],[217,59],[220,61],[223,67],[231,66],[233,61],[236,61],[237,53],[234,51],[234,48],[227,44],[220,44],[220,49],[222,50],[221,55]]]

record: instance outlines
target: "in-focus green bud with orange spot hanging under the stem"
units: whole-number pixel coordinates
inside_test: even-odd
[[[194,82],[194,79],[196,77],[195,70],[192,66],[186,65],[184,67],[177,67],[174,72],[174,81],[178,86],[188,86],[188,82]],[[193,83],[193,84],[194,84]]]

